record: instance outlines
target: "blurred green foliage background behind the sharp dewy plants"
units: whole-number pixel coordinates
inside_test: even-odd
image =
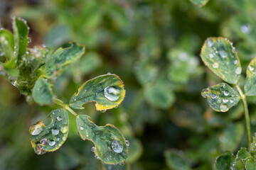
[[[87,104],[78,113],[97,125],[111,123],[129,140],[125,166],[98,162],[92,142],[82,141],[70,116],[68,140],[56,152],[37,155],[28,129],[58,106],[28,104],[18,89],[0,79],[0,169],[214,169],[215,157],[246,147],[242,104],[227,113],[209,108],[201,89],[221,80],[199,57],[203,41],[231,40],[242,63],[256,55],[256,1],[210,0],[199,8],[188,0],[0,0],[1,26],[11,15],[30,27],[29,47],[52,50],[70,41],[86,45],[85,55],[55,83],[67,102],[87,79],[117,74],[123,103],[105,113]],[[252,132],[256,98],[250,97]]]

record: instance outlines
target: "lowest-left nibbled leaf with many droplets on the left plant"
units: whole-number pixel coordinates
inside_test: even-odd
[[[46,125],[48,121],[50,124]],[[68,137],[68,127],[68,112],[63,108],[51,111],[46,119],[32,125],[29,129],[30,140],[36,154],[59,149]]]

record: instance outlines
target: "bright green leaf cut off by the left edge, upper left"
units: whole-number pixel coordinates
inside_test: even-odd
[[[14,56],[14,35],[9,30],[0,30],[0,50],[2,55],[10,61]]]

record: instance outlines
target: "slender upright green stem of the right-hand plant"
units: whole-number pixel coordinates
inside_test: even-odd
[[[235,84],[235,87],[238,89],[238,93],[241,96],[242,104],[243,104],[244,109],[245,109],[245,124],[246,124],[246,131],[247,131],[247,142],[248,142],[248,147],[250,148],[251,132],[250,132],[250,117],[249,117],[247,101],[246,101],[245,94],[243,94],[242,90],[240,89],[240,86],[238,86],[238,84]]]

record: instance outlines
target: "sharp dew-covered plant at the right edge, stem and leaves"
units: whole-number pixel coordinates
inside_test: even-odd
[[[242,100],[245,111],[249,152],[245,148],[242,148],[238,152],[237,157],[233,156],[229,151],[221,154],[216,161],[216,169],[243,169],[243,167],[245,169],[255,169],[256,141],[254,137],[251,142],[250,117],[246,96],[256,96],[256,58],[250,62],[246,69],[245,93],[242,92],[238,84],[242,67],[232,42],[225,38],[208,38],[203,44],[201,59],[212,72],[228,83],[220,83],[203,89],[202,96],[207,98],[210,107],[214,111],[227,112]],[[235,86],[237,91],[232,86]],[[231,128],[230,130],[235,131],[235,128]]]

